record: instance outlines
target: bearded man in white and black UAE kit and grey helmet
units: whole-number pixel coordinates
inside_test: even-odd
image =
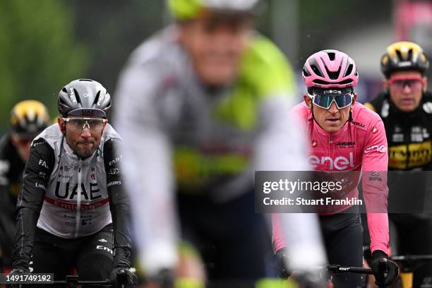
[[[33,140],[17,203],[12,273],[54,273],[133,287],[129,203],[107,124],[111,97],[94,80],[73,80],[57,98],[61,117]],[[32,261],[32,265],[30,265]]]

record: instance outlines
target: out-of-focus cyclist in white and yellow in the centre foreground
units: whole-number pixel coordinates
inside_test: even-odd
[[[168,1],[176,23],[140,45],[121,73],[122,169],[152,280],[179,263],[177,276],[200,280],[268,275],[271,239],[254,212],[253,170],[301,170],[306,161],[288,113],[292,70],[253,30],[259,2]],[[179,238],[210,263],[205,272],[184,249],[177,254]]]

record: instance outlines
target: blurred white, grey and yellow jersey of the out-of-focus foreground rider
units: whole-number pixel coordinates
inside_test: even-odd
[[[144,42],[116,90],[122,169],[150,275],[177,259],[174,192],[229,201],[251,191],[254,170],[306,169],[288,114],[294,80],[275,45],[256,35],[239,80],[214,91],[200,83],[178,40],[172,26]]]

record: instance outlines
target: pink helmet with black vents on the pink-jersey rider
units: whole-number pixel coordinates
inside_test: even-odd
[[[304,64],[302,78],[308,88],[354,88],[359,83],[354,60],[337,50],[311,55]]]

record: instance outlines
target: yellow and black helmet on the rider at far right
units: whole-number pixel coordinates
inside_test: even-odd
[[[414,42],[395,42],[387,47],[381,57],[381,72],[385,78],[391,73],[401,70],[418,70],[424,75],[429,68],[429,61],[423,49]]]

